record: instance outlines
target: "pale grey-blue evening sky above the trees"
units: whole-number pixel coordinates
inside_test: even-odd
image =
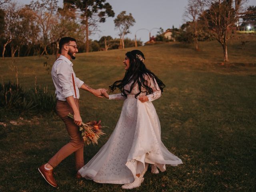
[[[31,0],[17,0],[21,4],[29,4]],[[62,6],[62,0],[59,0],[59,6]],[[146,42],[149,39],[147,30],[139,30],[146,28],[151,31],[151,36],[156,35],[159,31],[155,28],[162,27],[164,30],[168,28],[179,28],[184,23],[184,11],[188,0],[106,0],[110,3],[115,12],[114,18],[107,18],[105,23],[99,24],[99,30],[92,34],[92,40],[99,40],[102,36],[112,36],[119,38],[118,30],[115,30],[114,19],[122,12],[131,13],[136,23],[130,28],[130,34],[126,37],[134,39],[135,33],[137,40]],[[256,6],[256,0],[248,0],[248,5]],[[138,31],[139,30],[139,31]]]

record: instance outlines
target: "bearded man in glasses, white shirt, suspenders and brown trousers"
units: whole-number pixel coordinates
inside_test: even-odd
[[[59,46],[61,53],[52,66],[52,80],[56,88],[56,111],[66,125],[70,142],[64,145],[48,163],[38,168],[44,179],[53,187],[58,186],[53,177],[53,168],[67,156],[74,152],[76,170],[84,166],[84,141],[78,128],[82,124],[79,111],[79,88],[102,98],[101,89],[94,90],[90,88],[74,73],[73,63],[70,60],[75,59],[78,52],[76,40],[71,37],[64,37],[60,39]],[[69,112],[74,114],[74,121],[67,117]],[[80,178],[81,176],[77,173],[76,177]]]

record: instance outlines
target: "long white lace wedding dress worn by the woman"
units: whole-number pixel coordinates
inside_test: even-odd
[[[146,163],[155,164],[161,171],[166,170],[165,164],[182,164],[161,141],[160,122],[152,104],[161,96],[161,90],[155,80],[148,76],[145,79],[153,89],[148,102],[142,103],[134,97],[139,92],[138,85],[127,98],[121,94],[109,96],[110,100],[124,100],[122,112],[106,144],[79,170],[84,178],[98,183],[126,184],[143,172]],[[131,84],[125,90],[130,90]],[[142,92],[138,98],[143,95]]]

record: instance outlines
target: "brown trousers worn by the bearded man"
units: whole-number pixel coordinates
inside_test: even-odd
[[[79,109],[79,100],[75,99],[76,106]],[[68,113],[73,114],[72,108],[69,106],[67,101],[57,100],[56,111],[58,116],[66,125],[68,135],[70,136],[70,142],[64,145],[49,161],[48,163],[56,167],[62,160],[67,156],[75,153],[76,170],[79,170],[84,166],[84,141],[81,136],[81,132],[74,121],[68,118]]]

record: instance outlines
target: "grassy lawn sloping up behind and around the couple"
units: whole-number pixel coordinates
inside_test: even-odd
[[[246,42],[245,46],[241,45]],[[162,141],[184,164],[167,166],[166,172],[145,174],[140,188],[130,191],[255,191],[256,172],[256,36],[238,36],[229,44],[230,62],[222,63],[218,42],[192,45],[167,43],[139,47],[146,66],[166,84],[154,106],[162,126]],[[93,88],[107,88],[122,78],[125,50],[78,54],[76,75]],[[43,66],[45,57],[16,58],[19,82],[24,88],[48,86],[52,79]],[[3,81],[15,80],[8,68],[10,58],[1,61]],[[48,63],[54,62],[50,56]],[[49,67],[49,66],[48,66]],[[88,162],[114,129],[122,101],[98,99],[81,91],[84,121],[102,120],[109,126],[98,146],[84,148]],[[66,142],[68,135],[58,116],[50,114],[15,118],[2,113],[0,120],[0,191],[125,191],[121,185],[76,180],[74,156],[55,169],[58,189],[49,186],[37,168],[47,162]],[[13,125],[13,121],[18,125]]]

